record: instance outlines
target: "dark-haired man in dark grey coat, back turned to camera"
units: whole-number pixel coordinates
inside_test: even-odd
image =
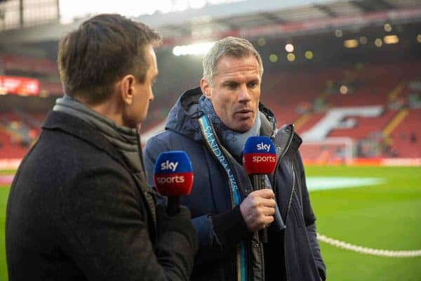
[[[142,23],[97,15],[60,42],[66,94],[8,197],[9,280],[189,280],[190,213],[156,206],[140,151],[160,40]]]

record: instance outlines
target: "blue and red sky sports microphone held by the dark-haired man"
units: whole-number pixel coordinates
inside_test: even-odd
[[[154,184],[160,195],[168,197],[166,212],[180,212],[180,195],[189,195],[193,185],[193,169],[184,151],[161,152],[154,166]]]

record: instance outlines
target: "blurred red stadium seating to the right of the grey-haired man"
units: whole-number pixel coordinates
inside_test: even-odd
[[[318,124],[329,109],[350,107],[362,112],[367,105],[380,106],[378,116],[345,117],[341,128],[331,129],[326,139],[351,138],[354,157],[420,157],[419,109],[407,109],[411,106],[408,97],[418,105],[420,77],[416,65],[419,62],[359,65],[359,70],[333,68],[311,78],[300,73],[271,74],[265,77],[265,83],[271,85],[265,94],[269,92],[268,104],[280,122],[293,122],[301,135]],[[390,71],[392,67],[396,71]],[[347,86],[347,91],[341,92],[340,86]],[[305,141],[302,155],[310,162],[343,162],[347,142]]]

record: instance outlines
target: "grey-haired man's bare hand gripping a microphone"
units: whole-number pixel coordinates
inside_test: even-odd
[[[255,190],[240,204],[241,215],[250,231],[258,231],[274,221],[276,202],[271,189]]]

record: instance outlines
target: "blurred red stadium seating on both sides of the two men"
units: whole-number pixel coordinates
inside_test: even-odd
[[[274,110],[279,124],[294,123],[298,133],[304,136],[333,108],[352,107],[358,111],[366,105],[380,106],[381,114],[375,117],[345,117],[341,120],[342,127],[331,129],[327,138],[351,138],[355,143],[354,157],[421,157],[418,141],[421,130],[417,124],[421,109],[409,108],[408,98],[417,97],[421,91],[416,64],[401,63],[396,72],[388,71],[393,65],[369,65],[359,72],[349,67],[333,67],[317,73],[268,73],[262,86],[262,102]],[[343,94],[338,87],[343,81],[358,86]],[[178,93],[174,91],[169,97],[156,95],[142,132],[162,126]],[[1,157],[22,157],[40,132],[45,116],[46,112],[1,112]],[[303,145],[302,154],[313,162],[327,159],[343,162],[345,145],[312,143],[309,147]]]

